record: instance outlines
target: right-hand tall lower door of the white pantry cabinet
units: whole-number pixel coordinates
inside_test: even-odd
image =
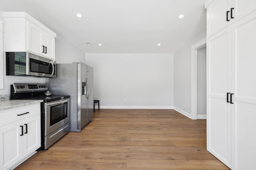
[[[256,169],[256,12],[232,25],[232,169]]]

